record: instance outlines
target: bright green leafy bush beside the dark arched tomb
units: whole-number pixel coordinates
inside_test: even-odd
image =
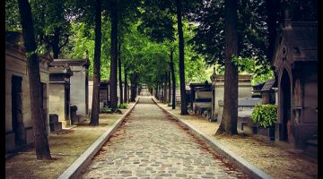
[[[252,121],[258,122],[260,126],[270,127],[277,121],[276,105],[257,105],[252,111]]]

